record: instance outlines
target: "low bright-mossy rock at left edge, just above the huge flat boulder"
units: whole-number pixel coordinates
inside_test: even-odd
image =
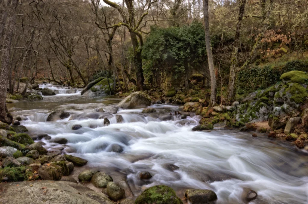
[[[33,176],[31,167],[20,166],[20,167],[5,167],[0,169],[0,179],[7,178],[8,181],[25,181],[30,176]]]

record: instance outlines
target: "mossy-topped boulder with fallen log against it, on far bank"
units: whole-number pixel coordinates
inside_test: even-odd
[[[105,78],[105,79],[102,79],[101,81],[99,81],[98,83],[96,83],[94,86],[92,86],[86,92],[84,92],[83,95],[85,95],[85,96],[110,95],[111,91],[110,91],[110,88],[109,88],[108,80],[109,80],[109,84],[110,84],[110,88],[111,88],[113,86],[113,80]]]

